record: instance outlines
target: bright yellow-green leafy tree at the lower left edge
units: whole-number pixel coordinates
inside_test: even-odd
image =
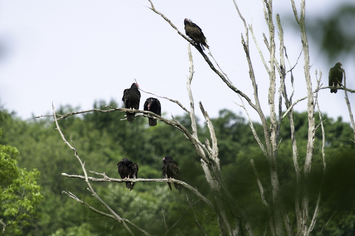
[[[22,235],[22,229],[39,217],[37,205],[43,200],[37,169],[18,168],[20,153],[9,145],[0,145],[0,220],[3,234]]]

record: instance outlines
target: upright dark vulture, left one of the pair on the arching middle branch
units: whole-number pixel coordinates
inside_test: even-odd
[[[125,108],[128,109],[139,109],[139,102],[141,100],[141,93],[138,90],[138,84],[133,83],[130,88],[123,91],[122,101],[125,104]],[[133,121],[135,113],[126,112],[127,121]]]

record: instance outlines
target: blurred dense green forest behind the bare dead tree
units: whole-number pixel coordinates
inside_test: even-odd
[[[115,101],[99,101],[94,108],[104,105],[122,107]],[[78,108],[64,106],[56,109],[65,114]],[[317,119],[317,115],[315,116]],[[201,162],[192,144],[176,128],[158,121],[155,127],[148,126],[148,119],[136,117],[133,122],[120,121],[124,113],[85,113],[61,120],[63,132],[73,140],[78,154],[85,161],[87,171],[105,172],[109,177],[119,178],[116,164],[127,157],[139,165],[139,178],[160,178],[162,158],[171,156],[179,163],[181,180],[190,184],[212,199],[207,186]],[[185,127],[190,127],[189,117],[175,117]],[[321,210],[312,235],[354,235],[355,234],[355,159],[352,128],[348,123],[328,119],[323,114],[326,133],[327,177],[323,185]],[[271,186],[267,180],[269,170],[251,133],[249,122],[230,110],[221,110],[212,119],[218,139],[219,157],[223,176],[230,192],[250,216],[256,235],[263,235],[268,222],[268,213],[261,202],[260,191],[250,160],[265,179],[266,197],[271,197]],[[300,162],[304,161],[307,144],[307,113],[295,113],[296,135],[298,137]],[[283,185],[283,196],[287,205],[294,207],[295,176],[288,120],[282,121],[279,148],[279,179]],[[316,123],[319,121],[316,120]],[[261,125],[254,123],[262,135]],[[67,129],[64,129],[67,127]],[[89,211],[85,206],[62,194],[75,192],[97,209],[102,206],[91,196],[82,179],[61,176],[61,173],[81,174],[81,166],[66,147],[55,129],[53,117],[21,120],[15,113],[0,109],[0,145],[16,147],[18,166],[28,171],[38,169],[37,183],[44,196],[37,206],[38,213],[29,220],[30,224],[20,226],[21,235],[125,235],[126,231],[115,220]],[[205,126],[198,127],[201,142],[209,137]],[[314,164],[312,165],[312,186],[316,200],[322,177],[322,133],[316,130]],[[264,167],[264,168],[263,168]],[[318,171],[317,171],[318,170]],[[95,174],[90,174],[97,177]],[[267,181],[266,181],[267,180]],[[206,204],[182,188],[170,191],[166,183],[139,182],[133,191],[124,183],[92,183],[95,191],[121,217],[153,235],[202,235],[201,225],[208,235],[218,235],[214,214]],[[269,188],[269,189],[268,189]],[[269,194],[268,194],[269,192]],[[1,212],[0,212],[1,214]],[[195,217],[196,215],[196,217]],[[165,221],[164,221],[165,218]],[[197,219],[197,220],[196,220]],[[290,215],[291,220],[295,220]],[[197,221],[197,222],[196,222]],[[7,229],[11,232],[11,228]],[[13,231],[16,232],[16,231]],[[139,232],[136,232],[139,235]],[[12,235],[11,233],[9,235]]]

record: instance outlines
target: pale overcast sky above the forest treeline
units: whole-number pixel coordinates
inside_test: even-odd
[[[342,2],[351,0],[306,1],[306,19],[327,16]],[[240,35],[245,34],[245,29],[232,0],[154,0],[153,3],[182,32],[185,32],[185,18],[199,25],[220,67],[237,88],[253,98],[241,45]],[[262,38],[262,32],[268,33],[262,1],[237,1],[237,4],[247,23],[253,25],[263,52],[267,53]],[[285,46],[291,64],[295,64],[302,47],[299,32],[288,22],[294,19],[290,1],[275,0],[273,5],[274,13],[280,13]],[[299,7],[299,1],[296,5]],[[145,6],[150,6],[146,0],[0,1],[0,104],[16,111],[23,119],[51,113],[52,102],[56,108],[70,104],[80,106],[81,110],[93,108],[95,100],[108,103],[114,99],[121,105],[123,90],[136,79],[142,90],[179,100],[190,109],[186,91],[188,42]],[[329,68],[339,60],[347,78],[354,78],[354,58],[324,58],[314,47],[317,42],[309,40],[313,89],[315,70],[318,74],[322,71],[322,83],[327,86]],[[251,35],[250,47],[260,100],[264,114],[268,115],[268,76]],[[198,51],[191,49],[195,71],[192,93],[197,115],[202,117],[197,104],[201,101],[211,117],[217,117],[223,108],[246,117],[244,110],[234,103],[240,103],[239,97],[209,69]],[[267,54],[264,55],[267,59]],[[296,100],[306,96],[303,54],[294,76],[293,100]],[[354,89],[355,83],[348,80],[347,86]],[[141,95],[140,109],[143,109],[145,99],[151,94],[141,92]],[[343,116],[349,121],[343,91],[331,94],[329,89],[322,90],[319,99],[323,113],[333,118]],[[184,114],[178,105],[159,100],[165,117]],[[355,104],[353,94],[350,102]],[[257,114],[247,108],[252,119],[258,121]],[[305,111],[305,103],[297,105],[295,110]],[[124,118],[124,113],[118,115]]]

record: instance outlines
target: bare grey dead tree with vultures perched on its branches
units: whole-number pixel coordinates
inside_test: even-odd
[[[250,224],[250,220],[248,219],[246,213],[240,206],[240,203],[235,200],[233,195],[230,193],[228,188],[226,187],[226,184],[223,179],[223,175],[221,172],[220,168],[220,159],[219,159],[219,150],[218,150],[218,145],[217,145],[217,138],[214,132],[214,127],[211,118],[209,117],[207,111],[203,108],[202,102],[199,102],[199,108],[203,114],[203,117],[205,119],[207,128],[210,133],[210,139],[206,138],[205,143],[200,142],[198,138],[198,132],[197,132],[197,122],[196,122],[196,115],[195,115],[195,103],[193,100],[193,95],[192,95],[192,90],[191,90],[191,83],[192,83],[192,77],[193,77],[193,60],[192,60],[192,53],[190,49],[190,44],[195,46],[197,51],[201,54],[201,56],[204,58],[206,63],[209,65],[211,70],[216,73],[220,79],[226,84],[228,88],[230,88],[232,91],[234,91],[236,94],[241,99],[241,107],[245,109],[246,114],[249,117],[250,121],[250,127],[252,130],[252,133],[256,139],[256,142],[258,143],[264,157],[266,158],[268,162],[268,168],[269,168],[269,175],[270,175],[270,184],[272,186],[272,193],[271,193],[271,200],[268,200],[265,197],[264,194],[264,186],[263,186],[263,181],[260,178],[260,175],[258,174],[258,169],[254,163],[254,160],[251,160],[251,165],[253,168],[253,172],[255,173],[256,176],[256,182],[258,184],[259,190],[260,190],[260,195],[261,195],[261,201],[264,204],[264,206],[267,208],[268,214],[269,214],[269,221],[268,221],[268,230],[271,235],[275,236],[283,236],[283,235],[297,235],[297,236],[306,236],[310,235],[311,231],[313,230],[315,224],[316,224],[316,219],[318,212],[320,210],[320,202],[321,202],[321,190],[318,192],[318,197],[317,201],[314,203],[314,205],[310,206],[310,195],[309,195],[309,189],[307,182],[309,181],[309,177],[311,174],[311,167],[312,167],[312,160],[313,160],[313,152],[314,152],[314,143],[315,143],[315,131],[317,127],[321,127],[322,129],[322,159],[323,159],[323,179],[320,183],[320,186],[323,184],[324,180],[324,175],[326,173],[326,155],[324,152],[324,145],[325,145],[325,133],[324,133],[324,127],[323,127],[323,120],[322,120],[322,115],[321,115],[321,110],[318,104],[318,91],[324,88],[328,87],[321,87],[321,73],[319,79],[317,79],[317,85],[316,88],[313,89],[312,87],[312,79],[310,75],[310,60],[309,60],[309,51],[308,51],[308,40],[307,40],[307,34],[306,34],[306,29],[305,29],[305,0],[301,0],[300,3],[300,15],[297,13],[297,7],[295,5],[294,0],[291,0],[291,6],[293,8],[294,16],[295,16],[295,21],[297,24],[299,24],[299,29],[300,29],[300,35],[301,35],[301,42],[302,42],[302,48],[300,49],[301,52],[303,52],[303,68],[304,68],[304,79],[305,79],[305,87],[307,91],[307,96],[303,98],[296,99],[295,102],[293,102],[293,96],[294,96],[294,75],[293,75],[293,69],[296,67],[298,60],[301,56],[298,56],[297,62],[295,65],[291,65],[289,56],[286,53],[286,46],[284,44],[284,35],[283,35],[283,28],[281,24],[281,20],[278,14],[274,15],[273,13],[273,7],[272,7],[272,0],[264,0],[263,1],[263,12],[264,12],[264,18],[265,21],[268,25],[268,32],[267,35],[263,34],[263,41],[267,47],[267,53],[264,54],[263,51],[261,50],[259,43],[256,39],[256,36],[253,32],[252,25],[247,24],[245,18],[242,16],[236,1],[233,0],[235,4],[236,11],[241,19],[241,21],[244,24],[245,28],[245,33],[241,34],[241,44],[242,47],[245,51],[246,55],[246,60],[249,66],[249,75],[250,75],[250,81],[251,81],[251,86],[253,87],[253,100],[247,96],[246,93],[242,92],[239,90],[236,86],[233,85],[233,79],[229,79],[226,74],[222,71],[220,66],[218,65],[217,61],[213,58],[212,53],[209,52],[209,56],[213,58],[214,63],[209,59],[209,57],[202,51],[201,47],[196,45],[192,40],[187,38],[183,33],[179,31],[177,27],[161,12],[159,12],[153,5],[152,0],[148,0],[151,4],[151,7],[149,7],[153,12],[157,13],[160,15],[166,22],[168,22],[173,29],[177,31],[179,35],[182,36],[187,42],[189,42],[188,46],[188,56],[189,56],[189,62],[190,62],[190,68],[189,68],[189,76],[187,76],[187,92],[189,95],[190,99],[190,110],[182,106],[182,104],[174,99],[166,98],[159,96],[160,98],[165,98],[170,100],[170,102],[177,103],[187,114],[190,115],[191,119],[191,126],[192,126],[192,132],[190,133],[186,127],[184,127],[178,120],[176,120],[173,116],[173,120],[168,120],[165,119],[162,116],[159,116],[157,114],[154,114],[150,111],[141,111],[141,110],[135,110],[136,116],[143,116],[143,117],[154,117],[154,119],[160,120],[164,122],[167,125],[174,126],[175,128],[179,129],[184,136],[189,139],[191,144],[194,146],[197,154],[200,157],[201,161],[201,166],[204,171],[205,177],[206,177],[206,182],[209,185],[209,188],[213,194],[213,202],[208,200],[205,196],[203,196],[200,192],[197,191],[196,188],[193,188],[190,186],[188,183],[182,182],[180,180],[175,180],[175,179],[114,179],[114,178],[109,178],[105,173],[96,173],[91,171],[92,173],[102,175],[103,178],[94,178],[94,177],[89,177],[87,175],[86,169],[85,169],[85,163],[81,161],[79,156],[77,155],[77,150],[75,146],[71,145],[69,142],[67,142],[66,138],[62,134],[60,127],[58,125],[58,120],[65,119],[66,117],[69,117],[71,115],[76,115],[80,113],[87,113],[87,112],[111,112],[111,111],[121,111],[121,112],[132,112],[130,109],[125,109],[125,108],[113,108],[110,107],[111,109],[109,110],[100,110],[100,109],[92,109],[92,110],[86,110],[86,111],[78,111],[74,113],[69,113],[69,114],[64,114],[64,115],[56,115],[55,110],[53,107],[54,111],[54,118],[55,118],[55,123],[57,126],[57,129],[64,140],[64,142],[69,146],[70,149],[72,149],[75,152],[75,156],[80,162],[82,166],[82,170],[84,175],[68,175],[65,173],[62,173],[62,175],[70,178],[82,178],[85,179],[86,184],[88,185],[89,191],[92,192],[94,197],[102,203],[102,205],[107,209],[108,213],[98,211],[97,209],[89,206],[86,202],[81,201],[78,197],[76,197],[74,194],[71,192],[66,192],[64,193],[73,198],[74,200],[84,204],[86,207],[88,207],[91,211],[94,211],[98,214],[102,214],[106,217],[110,217],[112,219],[117,220],[126,230],[130,235],[133,235],[132,231],[128,227],[129,225],[137,230],[139,230],[142,234],[144,235],[150,235],[148,232],[144,231],[141,229],[139,226],[133,224],[131,221],[121,218],[117,213],[115,213],[106,203],[102,201],[102,199],[95,193],[93,190],[90,181],[92,182],[170,182],[170,183],[178,183],[182,186],[184,186],[186,189],[190,190],[193,194],[195,194],[198,198],[200,198],[202,201],[204,201],[215,213],[216,215],[216,220],[219,226],[220,230],[220,235],[230,235],[230,236],[237,236],[237,235],[242,235],[242,232],[247,232],[248,235],[254,235],[253,228]],[[278,34],[278,41],[279,41],[279,50],[278,50],[278,56],[277,56],[277,46],[276,46],[276,39],[275,39],[275,24],[274,24],[274,16],[276,16],[276,27],[279,31]],[[268,82],[269,82],[269,88],[268,88],[268,104],[269,104],[269,111],[267,112],[266,110],[263,110],[260,104],[260,98],[258,95],[258,86],[256,82],[256,75],[253,70],[253,64],[252,64],[252,59],[250,56],[250,45],[249,45],[249,34],[251,34],[253,41],[255,42],[256,48],[259,52],[260,58],[262,59],[262,63],[264,65],[266,74],[268,75]],[[268,59],[266,59],[268,58]],[[288,62],[288,65],[286,65],[286,62]],[[286,69],[289,68],[289,69]],[[278,74],[278,75],[277,75]],[[286,87],[286,77],[290,78],[291,82],[291,87],[287,88]],[[317,77],[317,74],[316,74]],[[344,71],[344,77],[345,77],[345,71]],[[280,80],[278,81],[278,78]],[[279,87],[277,88],[277,84],[279,82]],[[288,95],[288,90],[291,90],[290,94]],[[344,79],[344,91],[345,91],[345,96],[348,100],[346,91],[353,92],[354,90],[350,90],[345,87],[345,79]],[[306,156],[305,156],[305,161],[302,163],[302,166],[299,164],[300,163],[300,157],[298,154],[298,146],[297,146],[297,137],[296,137],[296,130],[295,130],[295,121],[294,121],[294,111],[293,108],[295,105],[297,105],[301,100],[307,99],[307,115],[308,115],[308,134],[307,134],[307,149],[306,149]],[[260,122],[263,127],[263,137],[259,137],[257,132],[255,131],[255,128],[253,126],[253,122],[251,121],[251,118],[249,116],[249,112],[247,108],[245,107],[244,101],[246,101],[249,106],[257,112],[257,114],[260,117]],[[285,104],[285,109],[283,108],[283,104]],[[319,112],[319,117],[321,123],[316,126],[315,124],[315,107],[317,105],[317,110]],[[108,107],[108,106],[106,106]],[[349,107],[349,113],[351,114],[351,109],[350,109],[350,103],[348,104]],[[268,124],[267,122],[267,116],[265,114],[268,114],[267,116],[270,117],[270,123]],[[41,116],[38,116],[41,117]],[[292,140],[292,151],[293,151],[293,163],[294,163],[294,169],[295,169],[295,174],[296,174],[296,196],[295,196],[295,208],[294,208],[294,213],[296,215],[296,223],[293,224],[291,223],[289,219],[289,212],[287,212],[284,199],[281,194],[281,186],[280,186],[280,180],[279,180],[279,172],[278,172],[278,165],[277,165],[277,160],[278,160],[278,149],[282,143],[282,139],[280,139],[280,128],[281,128],[281,122],[284,118],[288,117],[289,124],[290,124],[290,132],[291,132],[291,140]],[[353,121],[352,121],[353,122]],[[354,122],[353,122],[353,126]],[[355,130],[355,129],[354,129]],[[354,131],[355,133],[355,131]],[[302,180],[301,180],[302,179]],[[320,188],[321,189],[321,188]],[[189,209],[192,209],[192,205],[190,203]],[[310,209],[314,209],[313,212],[310,211]],[[199,220],[196,217],[195,212],[193,212],[193,217],[198,225],[198,227],[201,229],[202,233],[206,235],[206,232],[203,230],[202,226],[199,223]],[[242,229],[244,228],[244,229]],[[166,227],[167,232],[169,231],[168,228]],[[296,232],[294,232],[294,229],[296,229]]]

